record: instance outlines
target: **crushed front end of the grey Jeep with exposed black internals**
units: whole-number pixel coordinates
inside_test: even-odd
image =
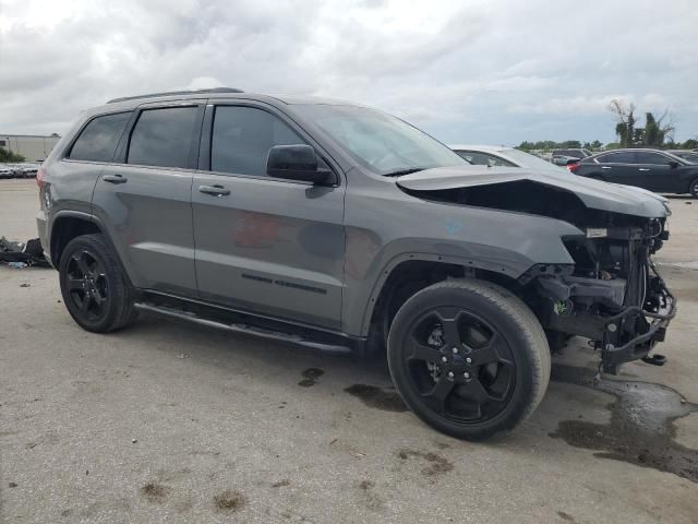
[[[565,238],[574,265],[531,267],[520,282],[549,334],[579,335],[601,355],[604,372],[649,357],[676,314],[676,299],[651,257],[669,239],[666,218],[599,213],[585,236]]]

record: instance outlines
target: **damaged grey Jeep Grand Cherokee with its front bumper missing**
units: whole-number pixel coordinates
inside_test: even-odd
[[[652,358],[676,300],[666,201],[470,166],[381,111],[218,88],[84,112],[38,172],[65,307],[139,311],[328,352],[387,352],[421,419],[484,439],[537,407],[551,347]],[[655,360],[659,357],[654,357]]]

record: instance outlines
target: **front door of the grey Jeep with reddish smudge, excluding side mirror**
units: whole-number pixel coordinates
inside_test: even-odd
[[[337,183],[268,177],[269,148],[290,144],[314,146]],[[192,204],[201,297],[338,327],[345,184],[337,166],[274,107],[240,102],[207,106],[200,167]]]

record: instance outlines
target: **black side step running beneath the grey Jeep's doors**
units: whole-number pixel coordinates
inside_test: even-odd
[[[134,307],[141,311],[147,311],[151,313],[164,314],[164,315],[172,317],[180,320],[186,320],[189,322],[206,325],[208,327],[217,327],[219,330],[226,330],[232,333],[244,333],[248,335],[254,335],[254,336],[258,336],[258,337],[267,338],[272,341],[288,342],[290,344],[296,344],[298,346],[308,347],[311,349],[317,349],[325,353],[338,353],[338,354],[352,353],[352,349],[349,346],[311,341],[308,338],[303,338],[301,335],[273,331],[273,330],[258,327],[250,324],[243,324],[243,323],[228,324],[226,322],[206,319],[204,317],[196,314],[195,312],[182,311],[182,310],[170,308],[167,306],[157,306],[157,305],[147,303],[147,302],[135,302]]]

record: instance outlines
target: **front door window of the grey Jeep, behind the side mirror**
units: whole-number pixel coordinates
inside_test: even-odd
[[[219,106],[214,115],[210,170],[266,176],[266,157],[273,146],[304,143],[291,128],[267,111]]]

